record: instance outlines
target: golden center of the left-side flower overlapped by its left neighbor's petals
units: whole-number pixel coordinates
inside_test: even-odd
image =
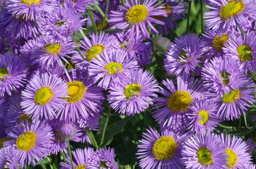
[[[63,99],[66,99],[69,103],[74,103],[83,99],[84,94],[86,94],[86,86],[83,82],[74,80],[68,82],[66,85],[68,87],[69,97],[63,97]]]

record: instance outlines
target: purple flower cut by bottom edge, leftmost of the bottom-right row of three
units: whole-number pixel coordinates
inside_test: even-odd
[[[156,168],[184,168],[181,162],[182,142],[187,134],[182,130],[162,130],[159,134],[156,129],[149,127],[139,140],[138,152],[139,166],[145,169]]]

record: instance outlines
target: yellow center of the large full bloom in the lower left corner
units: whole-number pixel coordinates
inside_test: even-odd
[[[37,134],[35,134],[35,132],[23,132],[23,134],[19,135],[19,137],[16,139],[18,150],[30,151],[35,147],[36,139]]]

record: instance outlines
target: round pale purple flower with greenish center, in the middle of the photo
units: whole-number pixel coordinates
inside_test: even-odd
[[[134,115],[149,108],[153,104],[151,97],[156,97],[154,92],[158,92],[158,83],[153,75],[142,69],[132,69],[120,75],[110,86],[110,94],[107,100],[110,107],[120,114]]]

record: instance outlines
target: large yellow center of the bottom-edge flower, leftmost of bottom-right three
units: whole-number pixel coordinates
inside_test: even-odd
[[[162,136],[153,144],[153,155],[158,160],[167,160],[175,155],[178,143],[173,137]]]

